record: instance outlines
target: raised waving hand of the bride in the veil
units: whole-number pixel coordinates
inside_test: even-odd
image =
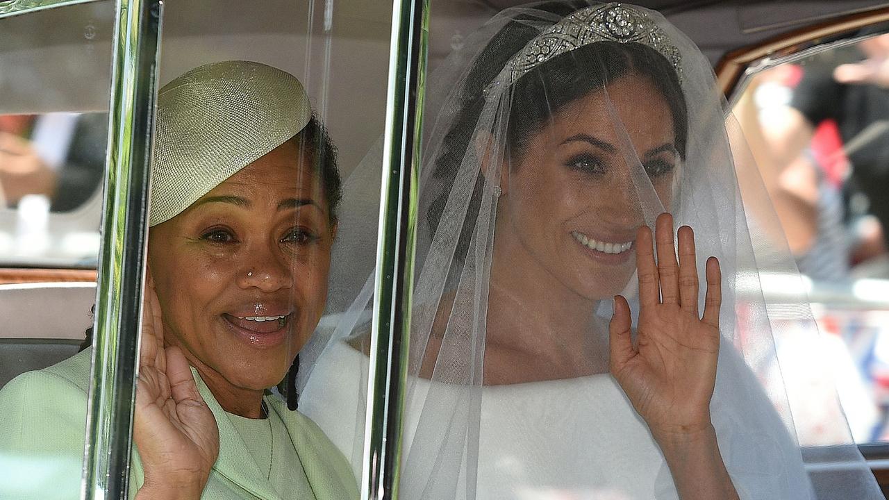
[[[630,338],[629,304],[614,298],[611,321],[611,372],[661,446],[712,429],[709,403],[719,353],[719,262],[707,262],[703,316],[698,311],[698,272],[691,228],[678,230],[679,262],[673,242],[673,217],[643,226],[636,239],[639,275],[637,342]]]

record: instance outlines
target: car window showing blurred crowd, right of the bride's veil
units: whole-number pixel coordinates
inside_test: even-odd
[[[766,63],[733,105],[830,346],[820,369],[836,380],[860,444],[889,440],[889,36],[880,32]],[[764,291],[780,295],[781,280],[764,279]],[[797,425],[827,418],[818,405],[807,411]]]

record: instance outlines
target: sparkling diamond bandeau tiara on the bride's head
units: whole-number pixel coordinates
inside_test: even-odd
[[[682,75],[679,50],[652,18],[622,4],[602,4],[572,12],[535,36],[507,64],[506,81],[495,79],[485,89],[485,94],[501,83],[514,84],[534,67],[558,55],[596,42],[644,44],[660,52],[676,69],[677,75]]]

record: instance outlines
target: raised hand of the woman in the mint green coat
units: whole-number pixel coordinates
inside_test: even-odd
[[[164,324],[150,271],[142,301],[133,438],[145,483],[137,499],[200,498],[219,455],[219,428],[197,391],[185,355],[178,347],[164,347]]]

